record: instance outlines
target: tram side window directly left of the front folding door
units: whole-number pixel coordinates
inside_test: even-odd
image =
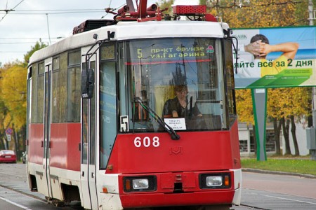
[[[68,92],[67,122],[80,122],[80,88],[81,88],[81,54],[80,50],[68,53]]]

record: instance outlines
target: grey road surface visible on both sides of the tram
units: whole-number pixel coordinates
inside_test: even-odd
[[[29,191],[25,173],[23,164],[0,164],[0,209],[81,209],[77,204],[67,207],[47,204],[43,195]],[[242,205],[231,209],[314,210],[315,189],[316,179],[243,172]]]

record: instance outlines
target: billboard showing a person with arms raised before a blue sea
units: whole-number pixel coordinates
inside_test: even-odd
[[[236,88],[316,86],[316,27],[235,29],[233,35]]]

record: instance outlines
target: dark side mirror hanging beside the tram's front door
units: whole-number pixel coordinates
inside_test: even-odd
[[[83,69],[81,72],[81,97],[91,99],[94,89],[94,70]]]

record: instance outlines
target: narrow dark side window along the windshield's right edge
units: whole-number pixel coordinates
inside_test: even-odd
[[[224,40],[225,53],[225,78],[228,96],[228,113],[230,125],[236,118],[236,104],[235,104],[235,82],[234,82],[234,68],[232,63],[232,42],[230,39]]]

